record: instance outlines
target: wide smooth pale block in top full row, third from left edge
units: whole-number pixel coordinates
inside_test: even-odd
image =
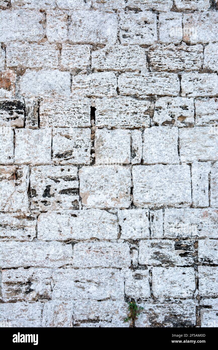
[[[73,11],[68,38],[75,44],[108,44],[117,41],[117,17],[100,11]]]

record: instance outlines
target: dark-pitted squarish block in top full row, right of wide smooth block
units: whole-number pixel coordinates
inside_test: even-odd
[[[157,41],[157,16],[152,12],[121,12],[119,36],[121,44],[151,45]]]

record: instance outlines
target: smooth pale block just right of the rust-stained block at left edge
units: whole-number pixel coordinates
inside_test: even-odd
[[[27,69],[20,79],[20,93],[26,97],[69,96],[70,72]]]

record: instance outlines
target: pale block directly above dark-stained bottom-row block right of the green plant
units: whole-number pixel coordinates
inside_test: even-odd
[[[155,297],[192,297],[195,270],[193,267],[153,267],[152,288]]]

